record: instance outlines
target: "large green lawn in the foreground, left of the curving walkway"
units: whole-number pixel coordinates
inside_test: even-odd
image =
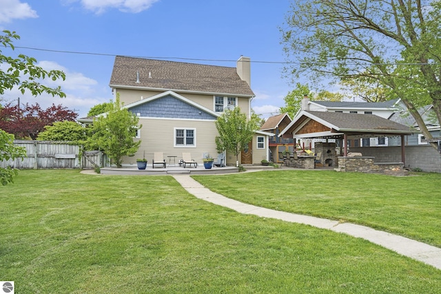
[[[431,266],[344,234],[240,215],[170,176],[20,171],[0,200],[0,277],[16,293],[441,290]]]

